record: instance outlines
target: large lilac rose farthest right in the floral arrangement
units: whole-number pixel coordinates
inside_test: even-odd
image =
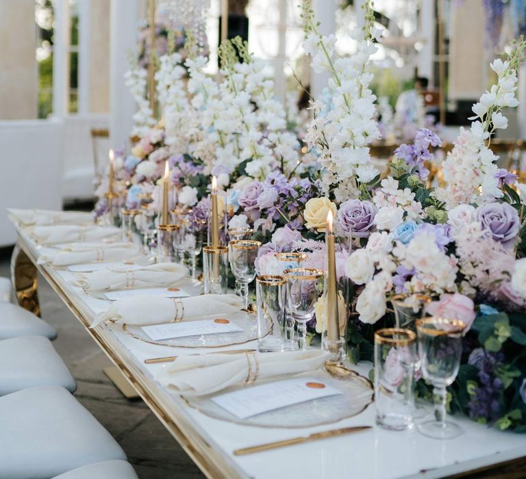
[[[517,210],[508,203],[488,203],[478,207],[477,220],[503,246],[513,243],[521,226]]]

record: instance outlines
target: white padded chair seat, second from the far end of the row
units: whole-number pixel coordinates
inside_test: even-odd
[[[55,339],[57,332],[27,309],[10,302],[0,302],[0,339],[21,336]]]

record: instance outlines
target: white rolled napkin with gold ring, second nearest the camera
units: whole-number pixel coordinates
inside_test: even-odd
[[[103,321],[119,324],[161,324],[178,320],[192,320],[212,314],[240,311],[243,300],[235,294],[201,294],[190,298],[160,298],[137,295],[113,302],[105,313],[99,313],[91,327]]]

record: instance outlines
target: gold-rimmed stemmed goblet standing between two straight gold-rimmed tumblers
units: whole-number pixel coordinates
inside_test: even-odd
[[[236,278],[239,295],[245,308],[249,307],[249,284],[255,278],[255,259],[261,242],[251,239],[233,239],[229,242],[230,269]]]

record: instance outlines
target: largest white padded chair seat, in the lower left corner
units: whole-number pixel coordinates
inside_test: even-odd
[[[63,387],[3,396],[0,424],[0,479],[53,478],[92,463],[126,460],[110,433]]]

